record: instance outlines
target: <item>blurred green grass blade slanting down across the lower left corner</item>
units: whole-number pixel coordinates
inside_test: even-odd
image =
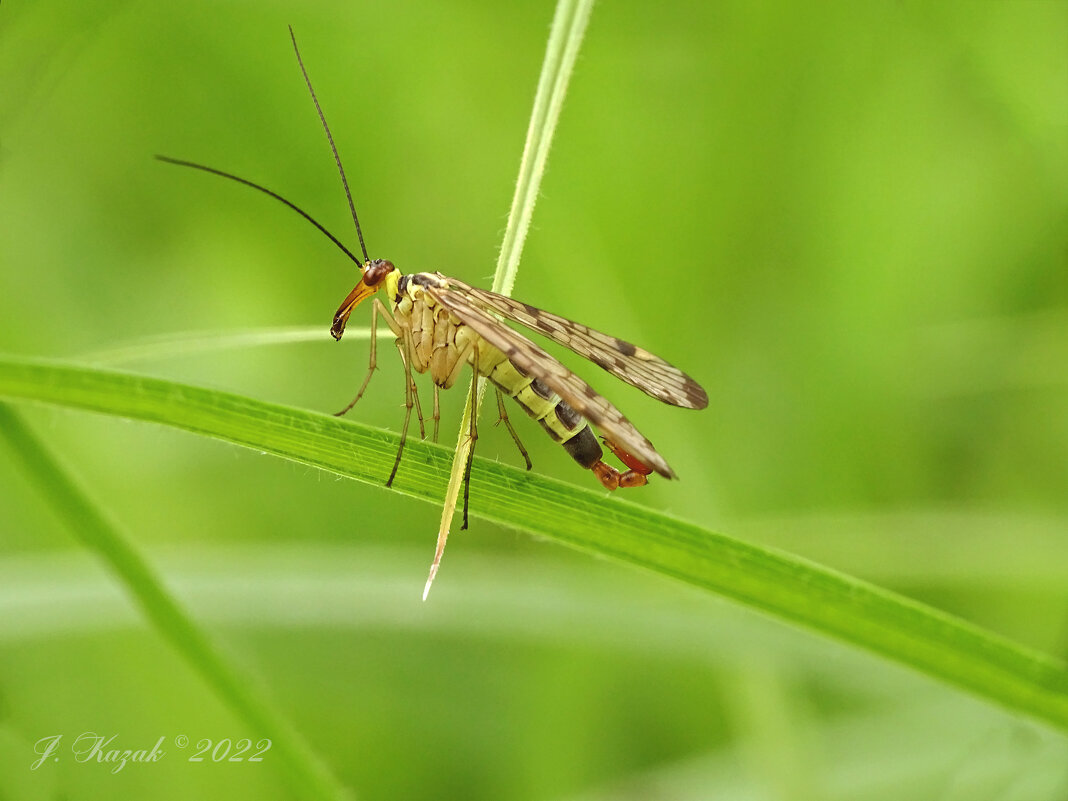
[[[21,467],[50,508],[120,578],[155,629],[230,705],[250,732],[269,733],[281,772],[298,797],[319,801],[350,798],[301,735],[276,710],[256,678],[236,668],[186,614],[137,549],[49,453],[21,415],[6,404],[0,404],[0,439],[20,457]]]

